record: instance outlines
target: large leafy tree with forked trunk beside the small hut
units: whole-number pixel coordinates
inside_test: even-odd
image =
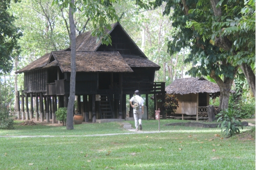
[[[161,5],[162,2],[164,1],[157,0],[156,5]],[[225,48],[226,45],[230,45],[228,44],[230,41],[227,40],[227,36],[218,36],[212,28],[216,26],[216,23],[220,19],[225,18],[225,12],[221,10],[215,11],[218,6],[221,6],[221,8],[236,8],[234,6],[236,1],[225,1],[225,3],[224,0],[220,1],[220,3],[218,3],[218,0],[166,2],[163,14],[168,15],[172,8],[174,10],[174,14],[171,17],[173,26],[180,29],[174,39],[169,41],[169,51],[176,53],[180,52],[182,47],[189,47],[191,53],[186,59],[186,62],[193,62],[194,67],[188,73],[193,76],[209,75],[213,78],[219,85],[221,91],[219,109],[227,108],[229,91],[239,65],[228,60],[230,56],[233,56],[232,52],[236,51],[236,49]],[[214,5],[215,2],[217,3]],[[234,15],[236,14],[234,13]],[[225,19],[229,18],[227,17]],[[190,25],[187,25],[187,23],[190,23]],[[219,29],[218,32],[221,30]],[[215,31],[217,31],[216,28]],[[209,35],[214,36],[210,36],[209,38]],[[217,41],[213,43],[211,37],[218,39],[219,43]]]

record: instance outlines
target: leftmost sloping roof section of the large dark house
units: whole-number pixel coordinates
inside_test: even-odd
[[[26,71],[31,71],[31,70],[34,70],[34,69],[39,69],[39,68],[42,68],[42,67],[46,66],[46,64],[48,63],[48,59],[50,57],[50,54],[51,53],[45,54],[44,56],[42,56],[42,57],[38,58],[37,60],[33,61],[32,63],[30,63],[26,67],[23,67],[22,69],[19,69],[18,71],[15,72],[15,74],[26,72]]]

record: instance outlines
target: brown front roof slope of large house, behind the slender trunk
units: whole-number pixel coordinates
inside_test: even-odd
[[[58,62],[62,72],[71,72],[71,52],[57,51],[52,52],[51,56]],[[76,71],[133,72],[118,52],[76,52]]]

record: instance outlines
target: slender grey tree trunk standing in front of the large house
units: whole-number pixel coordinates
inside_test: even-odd
[[[71,4],[74,6],[74,0],[71,0]],[[68,113],[67,113],[67,130],[74,129],[73,126],[73,112],[74,112],[74,102],[75,102],[75,86],[76,86],[76,33],[75,33],[75,23],[74,23],[74,10],[69,7],[69,25],[70,25],[70,40],[71,40],[71,76],[70,76],[70,94],[68,103]]]

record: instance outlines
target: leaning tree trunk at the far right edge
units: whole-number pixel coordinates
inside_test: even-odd
[[[253,96],[255,98],[255,75],[254,75],[254,72],[252,71],[251,67],[246,63],[243,63],[241,65],[241,69],[244,72],[244,75],[245,75],[245,77],[248,81],[250,89],[251,89],[251,91],[253,93]]]

